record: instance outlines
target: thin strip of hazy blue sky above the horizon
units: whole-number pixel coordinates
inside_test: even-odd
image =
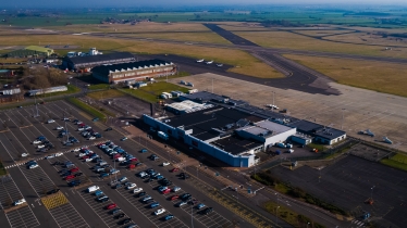
[[[3,8],[103,8],[103,7],[164,7],[209,4],[403,4],[406,0],[0,0]],[[1,7],[0,7],[1,8]]]

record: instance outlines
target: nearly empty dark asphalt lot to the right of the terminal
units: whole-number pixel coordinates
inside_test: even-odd
[[[407,210],[407,181],[402,170],[348,155],[322,168],[321,178],[319,170],[309,166],[294,172],[275,167],[271,172],[291,185],[349,211],[356,219],[361,220],[361,215],[368,212],[379,223],[383,219],[383,223],[393,223],[398,227],[404,227],[407,223],[407,218],[403,216]],[[365,203],[370,197],[374,200],[372,205]]]

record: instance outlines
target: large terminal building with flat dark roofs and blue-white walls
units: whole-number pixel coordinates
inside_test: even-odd
[[[144,115],[144,122],[170,139],[184,142],[233,167],[257,164],[259,157],[256,153],[279,142],[332,144],[346,138],[345,131],[206,91],[183,94],[178,99],[212,105],[196,105],[196,110],[183,110],[184,114],[174,117]]]

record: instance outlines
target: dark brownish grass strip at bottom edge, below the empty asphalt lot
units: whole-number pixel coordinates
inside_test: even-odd
[[[270,214],[278,215],[279,218],[285,220],[286,223],[293,225],[294,227],[304,227],[307,224],[312,224],[310,227],[314,228],[323,228],[323,225],[312,221],[308,217],[304,215],[299,215],[294,211],[289,210],[288,207],[284,206],[283,204],[278,204],[272,201],[268,201],[263,204],[266,211]]]

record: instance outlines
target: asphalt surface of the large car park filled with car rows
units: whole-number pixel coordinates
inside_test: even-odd
[[[112,215],[103,208],[103,203],[95,201],[95,197],[83,192],[89,185],[100,186],[102,191],[110,198],[111,202],[118,204],[118,206],[130,217],[133,223],[140,227],[189,227],[192,221],[190,208],[174,207],[174,202],[166,200],[166,195],[163,197],[157,190],[153,189],[153,183],[145,183],[135,176],[139,170],[145,170],[148,167],[153,167],[162,174],[174,179],[174,185],[178,185],[185,192],[190,192],[194,198],[197,198],[200,202],[205,202],[207,206],[213,206],[214,213],[209,215],[195,214],[193,210],[193,221],[194,226],[199,227],[219,227],[219,224],[231,224],[229,217],[236,217],[229,210],[220,206],[215,201],[207,198],[205,194],[197,192],[196,189],[189,185],[177,179],[172,173],[169,172],[171,166],[162,167],[160,164],[164,161],[171,163],[180,162],[180,157],[171,155],[166,151],[162,151],[161,148],[150,143],[148,140],[137,138],[134,140],[120,141],[120,135],[116,131],[103,131],[104,128],[98,123],[86,121],[78,110],[67,104],[64,101],[48,102],[42,105],[38,105],[39,117],[34,118],[32,113],[35,113],[35,106],[27,106],[23,109],[13,109],[0,112],[0,119],[5,122],[7,125],[1,126],[0,129],[0,159],[4,162],[4,165],[10,173],[15,185],[13,186],[10,179],[4,179],[3,183],[0,183],[0,189],[5,188],[11,193],[12,200],[20,198],[20,194],[27,200],[27,206],[13,211],[13,214],[8,216],[0,216],[0,220],[9,220],[10,226],[21,227],[21,224],[27,224],[29,227],[124,227],[125,225],[119,225],[118,221],[121,219],[114,219]],[[54,130],[57,126],[64,126],[65,123],[62,117],[66,116],[71,119],[78,118],[84,121],[85,124],[91,126],[95,130],[101,132],[103,138],[95,141],[85,140],[76,131],[77,126],[72,122],[66,123],[66,127],[72,136],[75,136],[81,142],[74,147],[65,147],[62,144],[63,139],[57,138],[58,131]],[[53,118],[55,123],[46,124],[49,118]],[[23,121],[22,121],[23,119]],[[45,136],[55,149],[44,152],[37,152],[32,141],[38,136]],[[95,147],[100,141],[113,139],[113,141],[122,147],[125,151],[135,155],[139,162],[144,164],[137,166],[134,169],[127,169],[121,166],[119,163],[113,162],[111,157],[104,154],[101,150]],[[115,140],[114,140],[115,139]],[[133,193],[124,191],[124,189],[112,189],[108,183],[110,180],[115,178],[111,176],[109,178],[100,178],[98,174],[90,169],[96,163],[86,163],[77,157],[78,152],[71,152],[74,148],[88,147],[90,150],[102,156],[111,166],[116,166],[120,170],[118,177],[127,176],[127,178],[137,183],[137,186],[145,189],[155,200],[157,200],[166,212],[171,213],[175,217],[171,220],[162,220],[162,216],[165,214],[155,216],[150,214],[152,211],[147,210],[145,204],[141,204],[133,197]],[[143,148],[148,148],[149,153],[141,154],[138,151]],[[160,161],[150,161],[147,159],[151,153],[156,153],[161,157]],[[21,152],[29,153],[27,157],[22,157]],[[63,155],[50,157],[49,160],[45,156],[62,152]],[[25,165],[26,161],[37,161],[39,167],[28,169]],[[81,180],[88,180],[87,183],[77,188],[70,188],[58,170],[63,168],[60,165],[53,165],[54,162],[71,161],[79,172],[82,176],[77,177]],[[157,185],[157,183],[156,183]],[[55,194],[48,195],[46,191],[59,188],[60,191]],[[18,194],[17,191],[21,191]],[[196,193],[195,193],[196,192]],[[7,204],[4,199],[8,195],[0,193],[0,202]],[[138,203],[138,204],[136,204]],[[28,213],[32,211],[32,214]],[[25,216],[21,216],[25,215]],[[20,218],[18,218],[20,216]],[[36,224],[38,223],[38,224]],[[12,225],[15,224],[15,225]],[[247,224],[247,227],[251,225]],[[8,227],[8,226],[5,226]]]

